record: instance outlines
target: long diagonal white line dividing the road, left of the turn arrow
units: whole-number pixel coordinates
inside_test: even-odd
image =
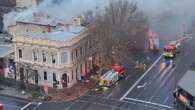
[[[156,65],[156,63],[161,59],[162,55],[158,57],[158,59],[150,66],[150,68],[135,82],[131,88],[120,98],[120,101],[122,101],[135,87],[136,85],[146,76],[146,74]]]

